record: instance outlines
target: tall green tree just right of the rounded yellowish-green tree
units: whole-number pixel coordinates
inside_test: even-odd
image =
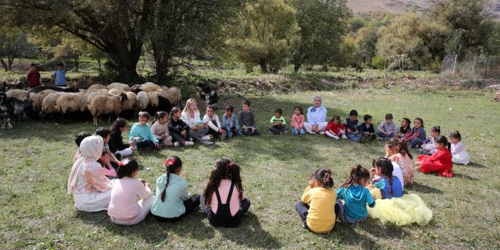
[[[291,43],[293,70],[301,65],[319,63],[324,66],[338,52],[348,19],[352,16],[345,0],[290,0],[296,8],[299,37]],[[362,24],[357,24],[361,26]]]

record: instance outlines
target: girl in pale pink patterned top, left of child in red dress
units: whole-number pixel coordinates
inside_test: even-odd
[[[395,162],[402,169],[403,186],[411,187],[415,169],[413,168],[413,156],[408,149],[404,139],[391,138],[385,142],[385,158]],[[394,173],[394,171],[393,171]]]

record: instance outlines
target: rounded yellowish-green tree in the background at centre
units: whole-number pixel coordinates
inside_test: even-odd
[[[290,53],[288,39],[298,31],[296,11],[283,0],[257,0],[246,4],[236,56],[246,65],[259,65],[262,73],[276,73]]]

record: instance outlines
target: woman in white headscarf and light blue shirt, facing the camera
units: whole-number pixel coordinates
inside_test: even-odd
[[[313,105],[307,109],[307,123],[304,123],[304,128],[310,134],[323,135],[326,127],[328,127],[326,121],[327,110],[321,105],[321,102],[321,96],[315,95]]]

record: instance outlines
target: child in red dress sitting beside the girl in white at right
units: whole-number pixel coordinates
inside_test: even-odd
[[[452,153],[449,151],[449,142],[446,137],[439,135],[434,141],[436,143],[436,153],[434,155],[420,155],[415,162],[416,169],[420,172],[437,172],[442,177],[453,177]]]

